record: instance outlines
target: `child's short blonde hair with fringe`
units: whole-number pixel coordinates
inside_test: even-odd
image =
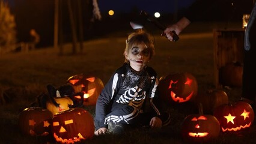
[[[126,49],[124,49],[124,52],[128,53],[129,50],[132,49],[133,44],[139,43],[144,43],[145,46],[147,46],[147,49],[150,52],[149,59],[151,59],[154,55],[154,43],[151,35],[145,31],[136,31],[129,34],[126,40]],[[129,63],[129,60],[125,58],[124,62]]]

